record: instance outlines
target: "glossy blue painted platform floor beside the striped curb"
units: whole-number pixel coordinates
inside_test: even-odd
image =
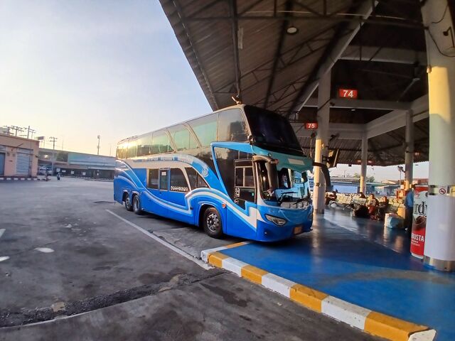
[[[331,208],[308,234],[222,252],[344,301],[427,325],[437,330],[437,340],[455,340],[455,274],[427,269],[409,249],[407,232]]]

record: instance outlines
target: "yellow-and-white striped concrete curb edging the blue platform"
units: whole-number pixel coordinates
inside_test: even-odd
[[[232,271],[237,276],[282,294],[306,308],[323,313],[343,323],[387,340],[431,341],[436,330],[354,305],[286,278],[269,273],[238,259],[222,254],[223,249],[240,247],[248,242],[218,247],[201,252],[203,261]]]

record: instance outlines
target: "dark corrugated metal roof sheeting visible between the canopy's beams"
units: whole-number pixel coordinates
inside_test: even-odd
[[[358,0],[160,0],[210,106],[234,104],[240,92],[242,102],[291,114],[299,92],[314,76],[314,70],[335,37],[349,34],[343,13],[355,13]],[[327,15],[326,15],[327,14]],[[380,15],[396,17],[397,26],[381,24]],[[421,21],[418,0],[380,1],[373,17],[353,39],[354,45],[382,48],[424,49],[423,30],[412,28]],[[233,20],[235,18],[235,20]],[[355,17],[357,18],[360,17]],[[383,19],[383,18],[382,18]],[[409,21],[410,27],[403,27]],[[294,26],[298,33],[289,35]],[[418,26],[418,25],[417,25]],[[405,43],[403,43],[405,42]],[[338,87],[358,89],[360,99],[410,102],[427,93],[425,65],[375,63],[369,60],[341,60],[332,70],[332,98]],[[316,109],[303,108],[300,119],[316,119]],[[331,109],[331,122],[365,124],[387,111]],[[427,156],[428,119],[416,126],[417,161]],[[420,136],[419,132],[422,133]],[[404,128],[370,139],[372,164],[404,162]],[[310,151],[310,139],[301,139]],[[314,144],[314,141],[313,141]],[[360,141],[335,139],[341,163],[360,160]]]

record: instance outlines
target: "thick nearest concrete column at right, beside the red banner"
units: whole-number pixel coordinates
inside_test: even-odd
[[[429,195],[424,263],[455,270],[455,32],[447,0],[422,7],[429,88]],[[444,34],[444,32],[446,32]]]

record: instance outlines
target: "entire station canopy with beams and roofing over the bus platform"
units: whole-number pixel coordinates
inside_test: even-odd
[[[242,103],[287,117],[314,155],[318,83],[331,72],[329,148],[340,163],[427,161],[427,57],[418,0],[160,0],[213,110]],[[348,92],[343,98],[341,90]],[[342,92],[342,93],[340,93]],[[346,95],[346,92],[344,93]],[[352,98],[356,97],[356,98]]]

